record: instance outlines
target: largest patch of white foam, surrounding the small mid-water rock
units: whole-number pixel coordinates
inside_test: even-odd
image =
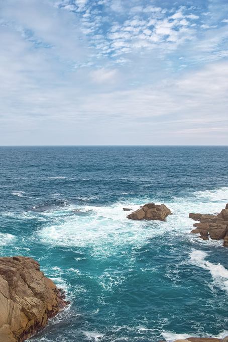
[[[144,198],[131,201],[125,200],[111,206],[89,206],[76,205],[81,212],[86,215],[69,215],[75,205],[67,206],[66,209],[49,210],[42,214],[43,217],[56,217],[54,225],[43,226],[38,230],[38,237],[43,243],[61,245],[61,246],[90,246],[94,254],[104,255],[117,253],[123,244],[145,245],[148,238],[156,236],[165,236],[167,231],[173,235],[183,235],[185,238],[191,239],[193,243],[210,243],[202,241],[194,234],[190,234],[194,221],[189,219],[190,212],[214,213],[220,212],[224,208],[223,192],[228,193],[228,188],[220,188],[218,190],[197,192],[194,196],[182,197],[165,202],[167,207],[171,209],[173,215],[166,218],[166,222],[162,221],[133,221],[128,220],[128,213],[123,211],[123,207],[131,207],[133,210],[139,208],[139,205],[155,202],[160,204],[155,198]],[[207,202],[202,202],[202,194],[206,193]],[[223,194],[223,196],[222,196]],[[223,201],[220,198],[223,197]],[[94,197],[95,198],[95,197]],[[215,201],[219,198],[219,201]],[[91,198],[81,197],[84,201]],[[58,220],[57,218],[61,218]],[[187,233],[187,234],[186,234]],[[213,243],[219,243],[213,241]]]

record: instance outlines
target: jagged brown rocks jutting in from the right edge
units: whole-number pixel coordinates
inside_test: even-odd
[[[196,229],[191,233],[199,233],[203,240],[208,240],[209,236],[213,240],[224,239],[223,246],[228,247],[228,203],[225,208],[217,215],[190,213],[189,218],[199,221],[193,224]]]

